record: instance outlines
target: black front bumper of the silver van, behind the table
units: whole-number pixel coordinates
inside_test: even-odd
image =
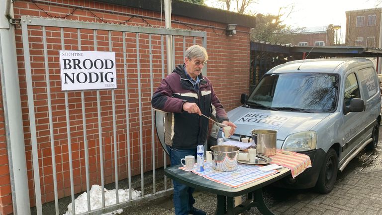
[[[290,175],[275,182],[273,185],[289,189],[307,189],[316,185],[322,166],[322,161],[325,159],[326,154],[322,149],[314,149],[300,153],[310,157],[312,167],[307,168],[294,179]]]

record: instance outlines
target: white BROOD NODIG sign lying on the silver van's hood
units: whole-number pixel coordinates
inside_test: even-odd
[[[268,115],[263,112],[247,112],[240,116],[234,123],[256,125],[278,130],[290,117],[279,115]]]

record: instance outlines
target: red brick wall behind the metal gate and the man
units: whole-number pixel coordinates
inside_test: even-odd
[[[99,3],[88,0],[57,0],[58,3],[75,4],[79,6],[91,7],[93,9],[76,9],[70,6],[60,6],[55,3],[33,3],[31,1],[18,0],[14,2],[14,13],[16,17],[21,15],[31,16],[68,16],[65,19],[86,20],[96,22],[123,23],[126,25],[140,26],[164,26],[164,22],[148,17],[131,17],[121,13],[133,13],[142,16],[160,18],[161,14],[142,9],[128,8],[112,4]],[[40,8],[39,8],[40,7]],[[118,11],[119,13],[102,12],[97,9],[107,11]],[[72,13],[72,14],[71,14]],[[237,35],[228,37],[225,35],[225,24],[215,23],[205,20],[197,20],[186,17],[173,16],[173,20],[184,23],[195,23],[204,26],[200,27],[190,24],[173,22],[173,28],[202,30],[207,32],[207,51],[209,60],[207,64],[207,76],[214,86],[214,90],[220,98],[226,110],[230,110],[240,105],[240,95],[249,93],[249,28],[238,27]],[[126,21],[128,20],[128,21]],[[61,49],[60,29],[47,27],[47,47],[50,73],[50,91],[52,98],[53,130],[54,130],[54,150],[57,169],[57,185],[59,198],[70,195],[69,180],[69,149],[67,135],[67,121],[65,115],[64,93],[61,92],[60,71],[58,51]],[[37,142],[39,153],[40,181],[42,202],[54,200],[53,173],[52,173],[52,151],[50,146],[49,118],[47,103],[47,85],[45,81],[45,66],[43,58],[42,30],[40,26],[29,26],[29,48],[31,54],[33,98],[35,106]],[[65,29],[65,49],[78,50],[77,29]],[[108,51],[108,36],[106,31],[97,31],[97,51]],[[126,110],[125,110],[125,91],[124,91],[124,67],[123,67],[123,48],[122,33],[112,32],[112,51],[116,54],[117,68],[117,89],[115,90],[115,109],[116,109],[116,132],[118,144],[118,175],[119,179],[127,177],[127,135],[130,137],[130,159],[132,174],[140,174],[140,134],[139,134],[139,100],[138,100],[138,71],[136,59],[136,39],[134,33],[126,33],[126,52],[128,68],[128,104],[129,104],[129,133],[126,129]],[[186,47],[193,41],[187,38]],[[196,40],[201,44],[201,40]],[[81,30],[81,49],[95,50],[92,30]],[[153,72],[154,89],[150,87],[150,67],[149,67],[149,48],[148,35],[140,34],[140,74],[141,74],[141,96],[142,96],[142,136],[143,136],[143,160],[144,172],[153,168],[152,150],[155,150],[156,167],[163,166],[163,150],[159,141],[156,139],[155,147],[151,145],[151,91],[159,85],[162,79],[161,48],[160,36],[153,35]],[[183,63],[183,38],[175,37],[176,44],[176,63]],[[22,49],[21,30],[16,30],[16,51],[19,68],[21,105],[23,114],[24,137],[26,162],[28,169],[28,184],[31,206],[35,205],[32,152],[30,140],[30,128],[28,119],[28,106],[26,94],[26,78],[24,70],[24,56]],[[166,63],[166,60],[164,61]],[[97,121],[96,91],[85,91],[86,108],[86,131],[89,148],[89,170],[90,183],[100,184],[99,167],[99,137]],[[74,172],[75,193],[86,190],[85,175],[85,149],[83,118],[81,105],[81,92],[69,92],[70,109],[70,132],[71,147]],[[1,100],[2,101],[2,100]],[[105,183],[114,181],[114,148],[113,148],[113,120],[111,106],[111,91],[100,91],[101,101],[101,126],[102,144],[104,156],[104,180]],[[2,104],[0,108],[2,107]],[[0,214],[11,213],[11,195],[9,185],[9,171],[6,155],[6,142],[4,136],[3,112],[0,109],[0,177],[3,178],[0,184]]]

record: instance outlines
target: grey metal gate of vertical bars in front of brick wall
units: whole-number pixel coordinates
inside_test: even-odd
[[[21,30],[26,86],[22,81],[20,86],[27,95],[27,101],[21,101],[27,102],[23,108],[29,116],[29,130],[24,132],[30,134],[26,145],[32,156],[28,158],[27,151],[27,163],[33,164],[37,214],[43,214],[43,203],[53,200],[56,215],[62,213],[59,198],[69,195],[76,214],[75,193],[83,191],[88,200],[85,214],[92,215],[172,192],[166,177],[164,188],[156,189],[162,180],[156,179],[156,168],[165,167],[167,161],[155,135],[150,103],[165,77],[163,36],[174,37],[174,62],[183,63],[188,46],[206,47],[206,32],[26,16],[21,17]],[[59,50],[115,52],[117,89],[62,92]],[[144,189],[145,170],[152,171],[152,192]],[[136,175],[141,179],[141,197],[132,200],[131,179]],[[123,178],[128,180],[130,198],[119,202],[118,183]],[[102,208],[91,210],[90,187],[99,182],[102,191],[105,184],[115,183],[116,204],[106,206],[102,192]]]

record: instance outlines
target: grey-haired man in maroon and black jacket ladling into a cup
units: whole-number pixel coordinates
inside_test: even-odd
[[[153,108],[165,111],[165,143],[170,154],[171,166],[179,165],[186,155],[196,157],[196,146],[203,145],[208,136],[208,118],[231,126],[231,135],[236,125],[229,121],[227,113],[213,91],[209,79],[201,75],[208,60],[204,47],[193,45],[186,50],[185,63],[178,65],[172,74],[162,80],[155,91]],[[174,184],[174,208],[176,215],[205,215],[193,207],[193,188],[179,182]]]

